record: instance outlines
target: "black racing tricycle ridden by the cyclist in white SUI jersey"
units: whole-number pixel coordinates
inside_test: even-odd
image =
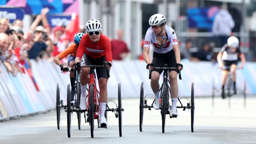
[[[151,69],[149,70],[149,79],[151,79],[151,72],[152,72],[152,67],[153,64],[151,66]],[[162,132],[164,133],[164,128],[165,128],[165,117],[166,115],[169,115],[170,118],[172,117],[176,117],[176,116],[172,116],[171,114],[171,110],[172,110],[172,106],[169,103],[169,92],[170,92],[170,80],[168,78],[168,70],[169,69],[176,69],[176,68],[168,68],[168,64],[164,64],[164,67],[162,68],[158,68],[158,67],[154,67],[156,69],[164,69],[164,73],[163,73],[163,83],[160,87],[160,112],[161,112],[161,116],[162,116]],[[181,73],[179,70],[179,79],[181,80]],[[156,99],[154,99],[152,104],[147,104],[147,100],[146,97],[148,95],[144,96],[144,83],[141,82],[140,85],[140,132],[142,132],[142,128],[143,128],[143,114],[144,114],[144,109],[148,108],[148,110],[151,110],[151,108],[153,108],[153,104],[155,102]],[[181,99],[187,99],[187,98],[181,98]],[[183,111],[188,108],[191,110],[191,131],[194,132],[194,111],[195,111],[195,101],[194,101],[194,83],[192,83],[192,87],[191,87],[191,101],[189,101],[188,99],[188,103],[187,105],[183,105],[181,103],[180,98],[178,98],[178,101],[180,102],[181,106],[177,106],[177,108],[183,108]]]

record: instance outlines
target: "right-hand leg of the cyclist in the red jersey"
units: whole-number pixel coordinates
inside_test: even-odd
[[[105,56],[102,56],[98,59],[92,60],[92,63],[95,65],[102,65],[103,61],[105,61]],[[98,84],[100,88],[100,125],[106,126],[107,120],[104,116],[105,110],[106,110],[106,103],[108,100],[108,90],[107,90],[107,84],[108,84],[108,75],[106,72],[106,69],[103,67],[96,68],[96,74],[98,78]]]

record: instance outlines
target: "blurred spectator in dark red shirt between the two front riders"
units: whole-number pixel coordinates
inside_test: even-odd
[[[118,38],[116,40],[111,40],[111,50],[113,60],[124,60],[130,52],[127,48],[127,44],[123,40],[123,30],[119,29],[116,32]]]

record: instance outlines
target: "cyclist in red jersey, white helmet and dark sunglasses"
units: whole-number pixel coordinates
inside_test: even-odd
[[[111,44],[108,36],[102,34],[102,25],[98,20],[89,20],[86,25],[86,34],[82,37],[75,63],[80,62],[83,65],[103,65],[103,61],[107,61],[108,69],[112,66]],[[86,109],[86,87],[88,84],[88,74],[90,68],[81,68],[80,84],[81,84],[81,99],[80,109]],[[100,88],[100,125],[106,126],[107,120],[104,116],[106,103],[108,98],[107,83],[108,76],[105,68],[96,68],[98,84]]]

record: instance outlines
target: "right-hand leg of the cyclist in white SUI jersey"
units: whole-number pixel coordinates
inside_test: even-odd
[[[168,67],[176,67],[176,57],[174,50],[170,51],[168,59]],[[177,101],[178,101],[178,82],[177,82],[178,70],[169,70],[170,79],[170,93],[172,97],[172,116],[178,116],[177,112]]]

